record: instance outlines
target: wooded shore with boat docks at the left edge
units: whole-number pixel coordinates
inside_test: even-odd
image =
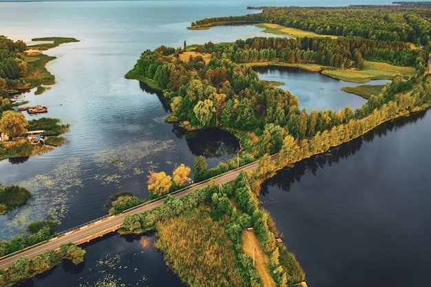
[[[69,129],[56,118],[28,120],[16,112],[21,92],[36,87],[35,94],[41,94],[53,85],[55,77],[46,70],[48,61],[55,59],[42,52],[61,43],[77,42],[73,38],[37,38],[36,45],[27,46],[23,41],[12,41],[0,36],[0,50],[4,61],[0,63],[0,160],[4,158],[25,158],[45,153],[62,145],[65,138],[59,136]],[[48,42],[48,43],[47,43]],[[48,86],[49,88],[49,86]],[[18,108],[19,110],[19,108]],[[28,110],[30,113],[30,109]],[[34,112],[46,111],[35,109]]]

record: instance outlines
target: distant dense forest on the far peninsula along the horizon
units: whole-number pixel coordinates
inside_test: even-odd
[[[359,36],[365,39],[429,45],[431,12],[411,6],[261,7],[262,13],[217,17],[191,23],[204,28],[239,21],[277,23],[317,34]]]

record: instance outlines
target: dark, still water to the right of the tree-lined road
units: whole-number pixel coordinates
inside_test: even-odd
[[[429,286],[430,125],[396,120],[265,182],[308,286]]]

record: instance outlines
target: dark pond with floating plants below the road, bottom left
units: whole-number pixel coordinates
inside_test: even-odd
[[[165,267],[163,255],[154,248],[154,232],[118,236],[109,233],[81,247],[85,261],[69,260],[19,286],[178,286],[180,279]]]

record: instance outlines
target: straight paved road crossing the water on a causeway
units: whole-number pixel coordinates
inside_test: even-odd
[[[275,156],[271,158],[271,160],[275,160]],[[215,178],[215,184],[222,184],[226,182],[231,182],[235,180],[240,174],[240,171],[251,171],[257,168],[257,162],[253,162],[251,164],[247,164],[244,167],[240,167],[239,169],[235,169],[233,171],[228,171],[221,176]],[[195,189],[202,189],[203,187],[207,187],[208,182],[201,182],[197,184],[193,184],[192,187],[181,191],[179,193],[175,193],[172,196],[174,198],[183,198],[185,195],[191,193]],[[114,215],[111,217],[105,217],[103,220],[99,220],[96,222],[92,222],[91,224],[81,226],[80,228],[76,228],[73,231],[67,232],[64,235],[56,237],[49,242],[45,242],[43,244],[39,244],[36,246],[32,246],[31,248],[26,248],[19,253],[15,253],[14,255],[10,255],[9,257],[3,257],[0,259],[0,268],[6,268],[12,265],[19,257],[24,255],[28,255],[28,257],[32,258],[34,255],[38,255],[40,253],[44,253],[48,249],[58,250],[61,244],[73,242],[75,244],[81,244],[87,240],[89,237],[93,237],[94,235],[103,235],[106,234],[107,231],[114,231],[120,226],[123,225],[123,220],[126,215],[143,213],[149,209],[154,209],[163,204],[165,199],[157,200],[155,202],[151,202],[148,204],[144,204],[139,206],[136,209],[132,209],[125,213],[120,213],[118,215]]]

